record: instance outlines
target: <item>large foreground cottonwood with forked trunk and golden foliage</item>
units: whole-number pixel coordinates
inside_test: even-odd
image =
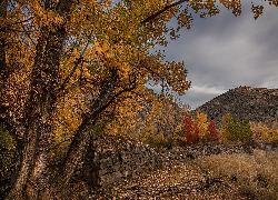
[[[176,39],[180,27],[190,28],[189,7],[201,17],[218,13],[215,1],[111,2],[0,1],[0,122],[16,142],[6,199],[59,197],[98,120],[125,99],[148,99],[147,82],[163,80],[179,94],[190,87],[183,63],[165,62],[149,48],[167,46],[167,34]],[[240,14],[240,0],[220,3]],[[176,29],[166,24],[173,17]],[[67,108],[78,120],[63,162],[50,172],[50,139]]]

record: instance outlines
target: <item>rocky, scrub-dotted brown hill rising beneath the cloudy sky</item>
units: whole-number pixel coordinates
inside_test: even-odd
[[[251,122],[261,121],[270,126],[278,119],[278,89],[239,87],[214,98],[199,108],[208,116],[208,121],[216,122],[217,128],[220,128],[221,118],[228,112],[232,118],[247,118]]]

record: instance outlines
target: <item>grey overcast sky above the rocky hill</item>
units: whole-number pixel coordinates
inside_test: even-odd
[[[185,61],[192,88],[180,99],[192,109],[239,86],[278,88],[278,8],[252,2],[265,8],[257,20],[251,0],[241,0],[239,17],[219,4],[220,13],[207,19],[192,14],[190,30],[182,28],[179,39],[156,48],[166,50],[168,61]]]

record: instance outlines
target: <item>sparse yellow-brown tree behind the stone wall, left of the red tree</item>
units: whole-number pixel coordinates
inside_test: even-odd
[[[139,136],[149,143],[171,148],[176,138],[183,134],[186,104],[165,99],[163,93],[149,103],[145,120],[140,121]]]

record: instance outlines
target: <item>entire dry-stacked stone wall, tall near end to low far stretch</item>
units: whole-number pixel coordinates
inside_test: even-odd
[[[128,136],[102,134],[92,137],[82,168],[77,177],[90,187],[103,187],[129,176],[160,169],[169,161],[187,161],[200,156],[245,152],[242,146],[189,146],[175,147],[157,152]]]

